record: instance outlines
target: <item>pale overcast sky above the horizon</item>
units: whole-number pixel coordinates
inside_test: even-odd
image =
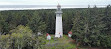
[[[108,5],[111,0],[0,0],[0,5]]]

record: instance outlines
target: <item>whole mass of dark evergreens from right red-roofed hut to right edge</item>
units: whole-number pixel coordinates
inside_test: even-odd
[[[110,11],[110,9],[108,10]],[[105,20],[105,18],[110,18],[111,16],[110,14],[107,16],[103,8],[100,9],[96,6],[77,11],[73,18],[72,38],[76,40],[76,43],[81,43],[81,45],[85,46],[111,47],[108,44],[111,43],[111,38],[108,38],[111,35],[109,32],[110,26],[107,27],[108,25],[106,25],[110,23],[110,19],[107,20],[108,23]]]

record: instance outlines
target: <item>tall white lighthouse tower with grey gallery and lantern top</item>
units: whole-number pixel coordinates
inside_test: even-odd
[[[62,37],[63,36],[63,27],[62,27],[62,10],[61,6],[57,5],[57,11],[56,13],[56,31],[55,31],[55,37]]]

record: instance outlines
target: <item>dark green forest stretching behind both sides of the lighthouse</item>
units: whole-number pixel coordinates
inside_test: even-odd
[[[71,30],[76,9],[63,9],[64,33]],[[55,33],[56,10],[19,10],[0,12],[0,32],[9,33],[18,25],[29,26],[33,32]]]

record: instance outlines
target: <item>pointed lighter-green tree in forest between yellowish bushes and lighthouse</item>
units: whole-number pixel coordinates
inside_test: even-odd
[[[28,26],[33,30],[33,32],[45,32],[46,24],[41,20],[41,17],[38,16],[37,12],[34,12],[33,18],[29,21]]]

